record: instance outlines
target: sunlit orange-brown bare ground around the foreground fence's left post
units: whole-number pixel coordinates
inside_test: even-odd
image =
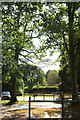
[[[16,106],[19,107],[19,104],[15,104],[13,106],[6,106],[6,109],[4,109],[2,113],[0,113],[0,119],[1,120],[28,120],[28,116],[29,116],[28,109],[7,111],[8,109]],[[34,109],[34,108],[35,108],[35,105],[32,106],[31,116],[33,115],[36,118],[44,118],[45,112],[47,112],[49,116],[56,117],[57,111],[58,112],[61,111],[61,109],[54,109],[54,108],[45,108],[45,109]]]

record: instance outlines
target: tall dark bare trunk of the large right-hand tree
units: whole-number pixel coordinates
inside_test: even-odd
[[[68,16],[69,16],[69,61],[72,79],[72,100],[78,100],[78,86],[77,86],[77,69],[76,69],[76,58],[75,45],[74,45],[74,13],[75,3],[68,3]]]

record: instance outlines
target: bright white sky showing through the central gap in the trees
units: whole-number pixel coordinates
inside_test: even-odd
[[[40,45],[39,40],[37,38],[33,39],[33,44],[38,47]],[[49,62],[47,63],[39,63],[36,65],[38,67],[40,67],[44,73],[46,73],[48,70],[59,70],[59,62],[55,62],[58,57],[59,57],[60,53],[59,52],[55,52],[52,56],[49,55],[49,51],[47,51],[47,56],[44,59],[50,59]]]

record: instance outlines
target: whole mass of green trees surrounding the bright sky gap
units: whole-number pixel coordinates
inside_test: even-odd
[[[2,86],[11,103],[25,87],[58,86],[78,100],[80,90],[80,13],[78,2],[2,3]],[[35,34],[35,35],[34,35]],[[45,39],[43,38],[45,36]],[[36,47],[33,40],[40,42]],[[34,65],[44,62],[46,51],[60,52],[59,71]],[[54,58],[53,58],[54,59]],[[48,60],[46,60],[48,63]],[[31,63],[31,64],[30,64]]]

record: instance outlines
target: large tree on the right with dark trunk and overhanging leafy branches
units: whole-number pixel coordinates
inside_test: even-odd
[[[80,49],[80,30],[78,2],[47,3],[42,16],[40,35],[47,36],[42,49],[49,49],[51,53],[59,48],[66,50],[70,65],[72,99],[78,99],[77,87],[77,56]]]

